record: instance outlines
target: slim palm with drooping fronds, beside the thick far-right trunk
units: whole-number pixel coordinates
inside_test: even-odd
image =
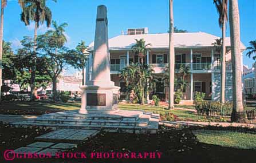
[[[222,50],[221,50],[221,92],[220,102],[225,103],[225,82],[226,82],[226,22],[227,22],[227,0],[214,0],[219,14],[219,27],[222,29]]]

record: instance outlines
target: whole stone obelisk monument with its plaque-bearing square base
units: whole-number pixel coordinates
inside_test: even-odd
[[[119,87],[110,77],[110,57],[108,49],[107,7],[97,8],[96,31],[92,57],[92,77],[82,89],[80,114],[118,112]]]

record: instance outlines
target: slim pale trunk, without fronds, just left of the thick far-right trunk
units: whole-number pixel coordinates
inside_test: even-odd
[[[222,2],[223,3],[223,2]],[[225,3],[223,3],[223,8]],[[220,92],[220,103],[225,103],[225,82],[226,82],[226,17],[224,17],[222,23],[222,64],[221,64],[221,92]]]

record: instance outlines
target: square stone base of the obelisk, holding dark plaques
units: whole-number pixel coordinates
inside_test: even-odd
[[[119,112],[118,86],[85,85],[82,89],[82,105],[80,114],[100,114]]]

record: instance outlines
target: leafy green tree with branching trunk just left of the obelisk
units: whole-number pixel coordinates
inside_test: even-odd
[[[81,67],[81,54],[64,46],[64,24],[53,23],[54,29],[39,35],[37,38],[40,58],[45,64],[45,71],[52,79],[53,100],[57,100],[57,78],[66,65]],[[66,25],[65,25],[66,26]]]

